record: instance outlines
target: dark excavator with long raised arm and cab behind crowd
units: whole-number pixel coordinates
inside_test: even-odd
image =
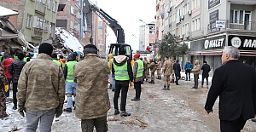
[[[108,49],[108,54],[113,56],[118,55],[119,47],[124,47],[126,50],[126,56],[132,59],[131,45],[125,44],[125,32],[124,29],[119,25],[117,20],[114,20],[110,15],[99,9],[95,4],[90,3],[89,0],[83,2],[83,14],[86,20],[87,31],[92,32],[92,12],[98,15],[114,32],[117,37],[117,43],[111,43]],[[84,21],[85,21],[84,20]],[[90,43],[92,43],[92,37],[90,36]]]

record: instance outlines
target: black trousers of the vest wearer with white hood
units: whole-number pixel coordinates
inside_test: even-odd
[[[115,80],[115,90],[114,90],[114,95],[113,95],[114,109],[119,109],[118,100],[119,100],[119,95],[120,95],[120,91],[121,91],[121,105],[120,105],[121,109],[120,110],[125,111],[129,82],[130,81]]]

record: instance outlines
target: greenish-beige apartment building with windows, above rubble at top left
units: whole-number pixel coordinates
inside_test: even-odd
[[[1,6],[19,12],[9,20],[30,43],[42,43],[55,31],[55,18],[59,0],[1,1]]]

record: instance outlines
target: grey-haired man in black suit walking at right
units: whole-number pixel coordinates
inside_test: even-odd
[[[251,66],[241,63],[239,49],[224,47],[223,66],[215,70],[212,86],[207,95],[205,112],[219,96],[219,119],[222,132],[239,132],[248,118],[256,113],[256,75]]]

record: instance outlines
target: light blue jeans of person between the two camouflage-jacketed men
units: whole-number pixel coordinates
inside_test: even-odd
[[[67,93],[67,107],[71,108],[72,106],[72,95],[74,96],[74,101],[76,104],[76,92],[77,92],[77,83],[66,82],[66,93]]]

